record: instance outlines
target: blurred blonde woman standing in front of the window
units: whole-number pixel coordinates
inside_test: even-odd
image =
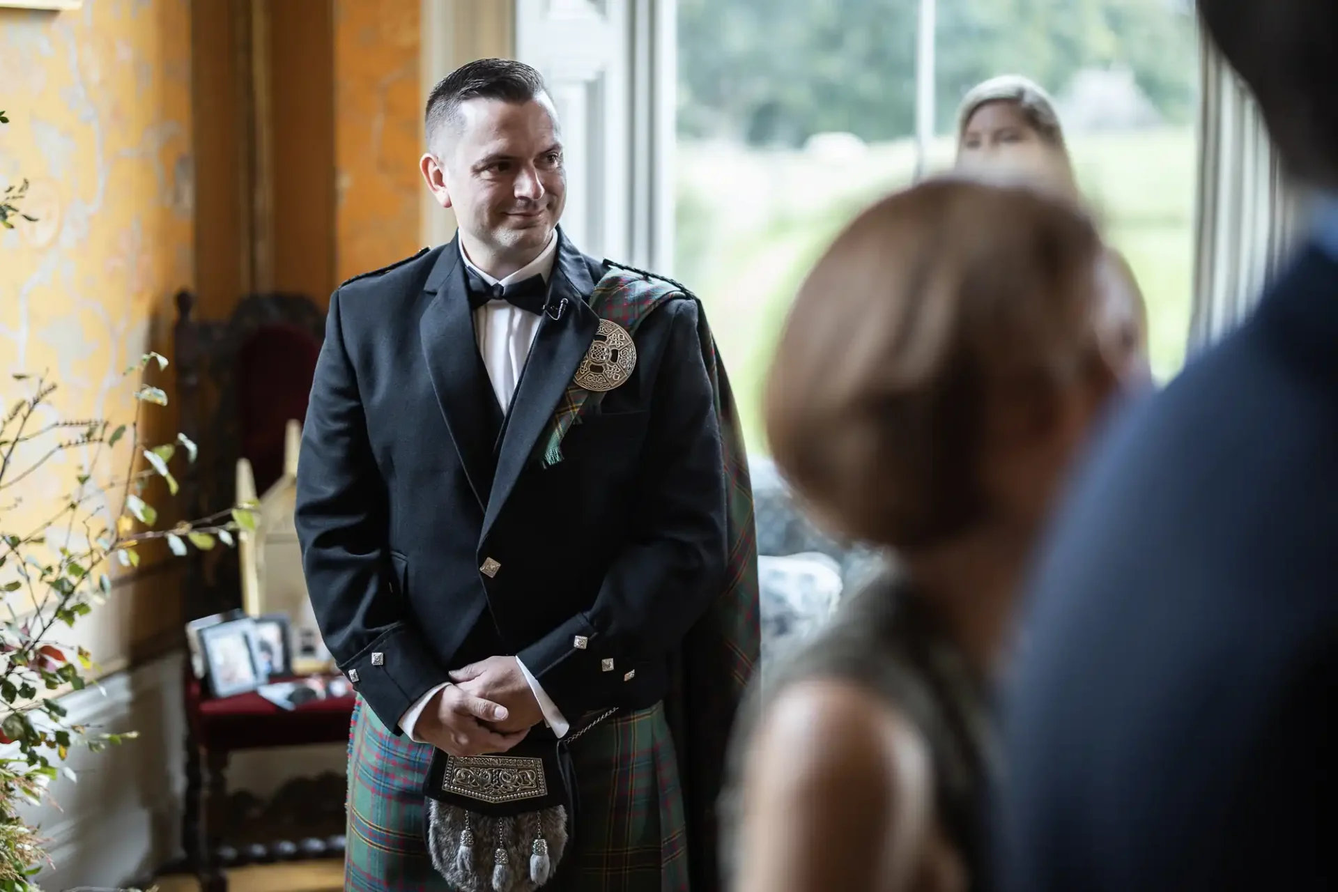
[[[1037,83],[1002,75],[977,84],[962,99],[957,116],[957,169],[997,181],[1029,183],[1068,201],[1084,203],[1073,159],[1054,102]],[[1133,269],[1108,247],[1103,275],[1111,288],[1127,289],[1119,302],[1124,337],[1137,353],[1147,350],[1147,304]]]

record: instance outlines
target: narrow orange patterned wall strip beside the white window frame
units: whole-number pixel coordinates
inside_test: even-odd
[[[419,4],[334,1],[336,281],[403,259],[419,239]]]

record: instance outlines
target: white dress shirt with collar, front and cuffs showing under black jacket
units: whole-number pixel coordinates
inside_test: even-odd
[[[512,282],[523,282],[531,275],[542,275],[543,281],[549,281],[557,255],[558,233],[554,230],[553,237],[549,238],[549,243],[538,257],[506,278],[496,280],[471,263],[468,255],[464,253],[464,245],[460,245],[460,257],[464,259],[466,266],[488,285],[511,285]],[[474,336],[478,338],[479,353],[483,356],[483,366],[488,370],[492,392],[496,393],[503,413],[511,407],[511,397],[515,396],[515,386],[520,382],[520,372],[524,369],[524,361],[530,356],[530,348],[534,345],[534,336],[539,330],[542,318],[539,314],[522,310],[506,301],[488,301],[474,310]],[[570,725],[563,718],[562,711],[558,710],[558,705],[543,691],[543,687],[530,674],[524,663],[519,659],[515,662],[520,666],[524,681],[530,683],[530,690],[534,691],[535,699],[539,701],[543,721],[547,722],[549,728],[558,737],[566,736]],[[413,736],[413,726],[417,723],[417,718],[423,713],[423,707],[427,706],[427,702],[448,683],[443,682],[423,694],[417,702],[409,706],[408,711],[400,715],[400,730],[408,734],[409,740],[419,744],[427,742]]]

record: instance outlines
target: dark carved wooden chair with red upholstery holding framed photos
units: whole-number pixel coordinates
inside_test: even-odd
[[[245,457],[264,492],[284,471],[285,428],[306,415],[325,314],[297,294],[256,294],[226,320],[195,317],[194,296],[177,296],[175,368],[179,429],[199,444],[199,459],[181,480],[185,516],[201,518],[235,504],[237,461]],[[238,608],[237,552],[191,550],[182,599],[185,619]],[[274,840],[238,851],[225,845],[226,768],[238,750],[348,740],[352,694],[282,710],[256,693],[211,698],[186,661],[186,869],[206,892],[226,889],[223,867],[253,860],[341,856],[329,843]],[[343,806],[343,792],[339,793]]]

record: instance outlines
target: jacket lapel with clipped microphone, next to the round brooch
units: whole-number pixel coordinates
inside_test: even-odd
[[[594,290],[590,267],[561,230],[558,238],[558,257],[553,263],[549,288],[550,309],[539,324],[530,358],[526,360],[511,401],[498,451],[492,493],[483,516],[484,536],[510,497],[515,481],[534,453],[539,435],[557,411],[558,401],[571,384],[571,377],[599,328],[599,317],[586,304]],[[555,312],[563,298],[566,308],[559,318],[553,318],[550,313]]]

